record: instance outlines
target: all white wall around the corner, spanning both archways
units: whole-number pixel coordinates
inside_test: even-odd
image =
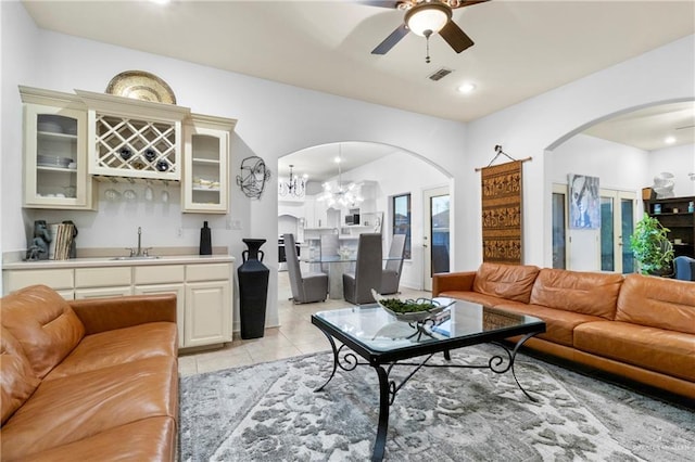
[[[533,157],[523,167],[525,261],[551,266],[547,191],[552,181],[546,171],[545,151],[593,120],[611,114],[658,102],[695,99],[695,36],[464,125],[37,30],[21,3],[0,2],[0,9],[3,252],[26,247],[26,218],[20,200],[22,108],[17,85],[101,92],[123,70],[152,72],[169,84],[180,105],[197,113],[239,119],[232,141],[232,176],[237,175],[241,159],[249,155],[258,155],[266,165],[276,165],[285,154],[344,140],[386,143],[416,153],[453,178],[453,270],[472,269],[481,261],[480,176],[475,168],[488,165],[495,144],[502,144],[513,156]],[[418,129],[403,130],[403,127]],[[80,246],[92,240],[111,246],[130,244],[130,230],[112,229],[114,222],[121,221],[156,229],[157,245],[197,245],[197,230],[204,218],[213,227],[214,244],[228,245],[239,261],[242,238],[275,242],[275,191],[270,189],[261,200],[251,201],[232,188],[230,209],[231,218],[241,222],[239,231],[224,229],[219,220],[225,218],[181,218],[173,210],[164,215],[164,210],[144,207],[114,210],[109,216],[102,211],[66,213],[65,218],[77,223]],[[179,226],[185,228],[184,238],[172,232]],[[275,268],[276,246],[265,251],[266,262]],[[270,274],[267,319],[268,324],[274,324],[277,277],[275,271]]]

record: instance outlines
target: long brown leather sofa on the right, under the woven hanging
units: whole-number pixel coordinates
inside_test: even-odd
[[[485,262],[434,274],[432,296],[541,318],[529,348],[695,398],[695,283]]]

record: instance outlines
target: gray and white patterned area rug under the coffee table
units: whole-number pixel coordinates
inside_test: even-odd
[[[488,360],[493,345],[452,354]],[[378,421],[372,368],[330,374],[329,352],[180,380],[181,461],[366,461]],[[433,358],[434,363],[444,362]],[[695,413],[519,355],[517,377],[420,370],[391,407],[387,461],[692,461]],[[403,376],[407,367],[395,368]]]

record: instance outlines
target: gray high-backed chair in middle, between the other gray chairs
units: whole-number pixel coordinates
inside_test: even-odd
[[[381,233],[359,234],[355,272],[343,273],[343,297],[354,305],[374,304],[381,288]]]

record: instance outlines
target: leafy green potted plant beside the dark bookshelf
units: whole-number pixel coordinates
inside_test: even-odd
[[[642,274],[664,275],[670,272],[673,246],[667,235],[669,231],[659,220],[647,214],[637,221],[630,244]]]

